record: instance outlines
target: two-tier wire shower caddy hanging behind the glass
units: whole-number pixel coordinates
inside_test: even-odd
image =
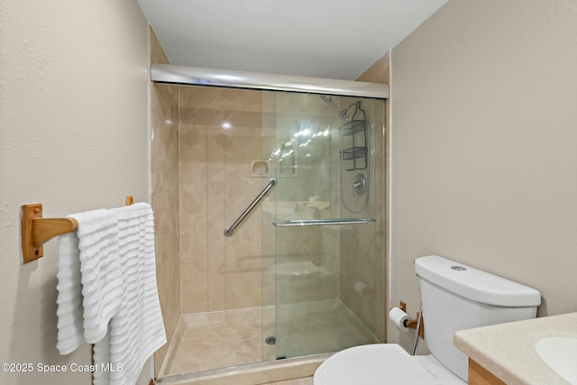
[[[365,119],[351,120],[339,127],[341,136],[341,160],[353,160],[353,168],[347,171],[365,170],[367,168],[367,121]],[[346,142],[352,146],[344,147],[344,138],[350,138]],[[361,142],[362,146],[357,145]]]

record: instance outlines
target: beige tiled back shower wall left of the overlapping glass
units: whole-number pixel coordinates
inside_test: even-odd
[[[180,259],[184,314],[261,306],[261,92],[179,87]]]

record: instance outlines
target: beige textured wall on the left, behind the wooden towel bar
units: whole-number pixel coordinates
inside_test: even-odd
[[[21,264],[20,206],[46,217],[148,201],[147,23],[136,1],[0,4],[0,362],[88,364],[56,350],[56,241]],[[10,373],[6,384],[89,384]]]

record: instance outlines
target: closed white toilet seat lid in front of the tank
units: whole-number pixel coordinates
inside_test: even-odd
[[[411,356],[398,344],[368,344],[335,353],[315,371],[315,385],[463,385],[431,355]]]

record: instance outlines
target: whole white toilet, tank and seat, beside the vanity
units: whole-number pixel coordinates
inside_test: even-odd
[[[541,295],[511,280],[437,255],[418,258],[426,346],[411,356],[398,344],[355,346],[335,353],[315,372],[315,385],[466,384],[468,359],[453,333],[536,316]]]

